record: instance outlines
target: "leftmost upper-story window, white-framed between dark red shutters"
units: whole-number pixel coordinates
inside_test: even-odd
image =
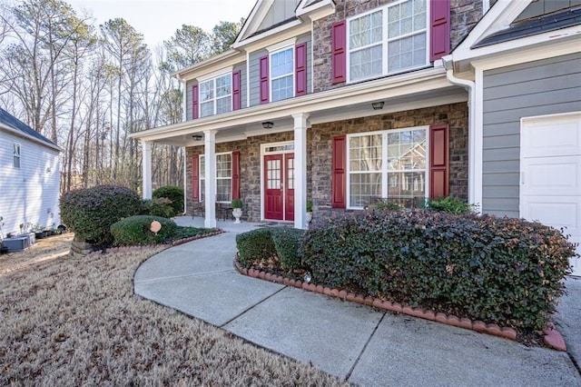
[[[232,110],[232,77],[224,74],[199,84],[200,116],[227,113]]]

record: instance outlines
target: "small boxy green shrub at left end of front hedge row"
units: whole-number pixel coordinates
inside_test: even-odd
[[[276,256],[271,229],[259,228],[236,235],[238,260],[244,266],[266,261]]]

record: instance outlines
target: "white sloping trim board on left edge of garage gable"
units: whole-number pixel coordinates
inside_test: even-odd
[[[455,60],[461,60],[468,56],[472,51],[470,47],[487,35],[507,29],[530,3],[531,0],[498,0],[470,31],[466,39],[453,51],[452,55],[454,55]]]

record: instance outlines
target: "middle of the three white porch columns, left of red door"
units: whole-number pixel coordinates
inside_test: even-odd
[[[204,205],[206,218],[203,225],[206,228],[216,227],[216,131],[203,132],[204,150]]]

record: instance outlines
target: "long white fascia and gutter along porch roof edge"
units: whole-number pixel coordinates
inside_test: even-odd
[[[325,92],[307,94],[271,104],[261,104],[218,116],[198,118],[179,124],[162,126],[143,132],[129,134],[132,138],[145,141],[162,140],[168,136],[192,134],[203,130],[220,130],[242,124],[275,119],[291,114],[316,112],[348,104],[360,104],[379,99],[389,99],[406,94],[415,94],[449,87],[443,67],[429,68],[419,72],[380,78],[374,81],[351,84]]]

